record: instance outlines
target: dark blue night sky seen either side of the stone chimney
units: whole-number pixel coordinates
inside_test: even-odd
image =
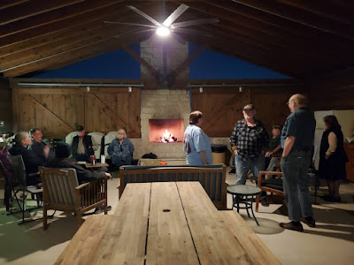
[[[140,44],[131,48],[140,54]],[[189,54],[196,49],[196,45],[189,44]],[[124,49],[117,49],[58,70],[42,73],[34,78],[140,79],[140,63]],[[189,65],[189,79],[289,79],[289,77],[206,49]]]

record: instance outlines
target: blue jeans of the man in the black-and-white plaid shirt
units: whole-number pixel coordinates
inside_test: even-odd
[[[252,171],[258,183],[259,171],[265,170],[265,156],[259,155],[256,158],[247,158],[246,161],[240,155],[235,155],[236,185],[244,185],[247,180],[249,170]]]

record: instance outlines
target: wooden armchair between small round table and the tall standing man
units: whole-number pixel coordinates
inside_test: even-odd
[[[267,176],[276,176],[276,178],[262,179]],[[282,186],[282,173],[278,171],[259,171],[258,175],[258,187],[262,192],[275,193],[279,195],[284,195]],[[259,205],[259,195],[256,197],[256,212],[258,212]]]

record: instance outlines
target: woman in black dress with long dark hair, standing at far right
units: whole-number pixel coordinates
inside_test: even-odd
[[[339,186],[346,177],[345,163],[349,162],[343,148],[341,125],[334,115],[323,118],[325,132],[322,135],[319,149],[319,177],[327,179],[328,195],[326,201],[341,202]]]

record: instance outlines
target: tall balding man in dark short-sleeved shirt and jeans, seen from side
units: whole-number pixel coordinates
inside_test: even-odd
[[[312,145],[316,121],[306,109],[307,99],[296,94],[289,98],[291,114],[281,132],[281,171],[285,200],[288,203],[290,223],[280,223],[282,228],[304,231],[303,223],[315,227],[312,202],[307,183],[307,169],[311,164]]]

